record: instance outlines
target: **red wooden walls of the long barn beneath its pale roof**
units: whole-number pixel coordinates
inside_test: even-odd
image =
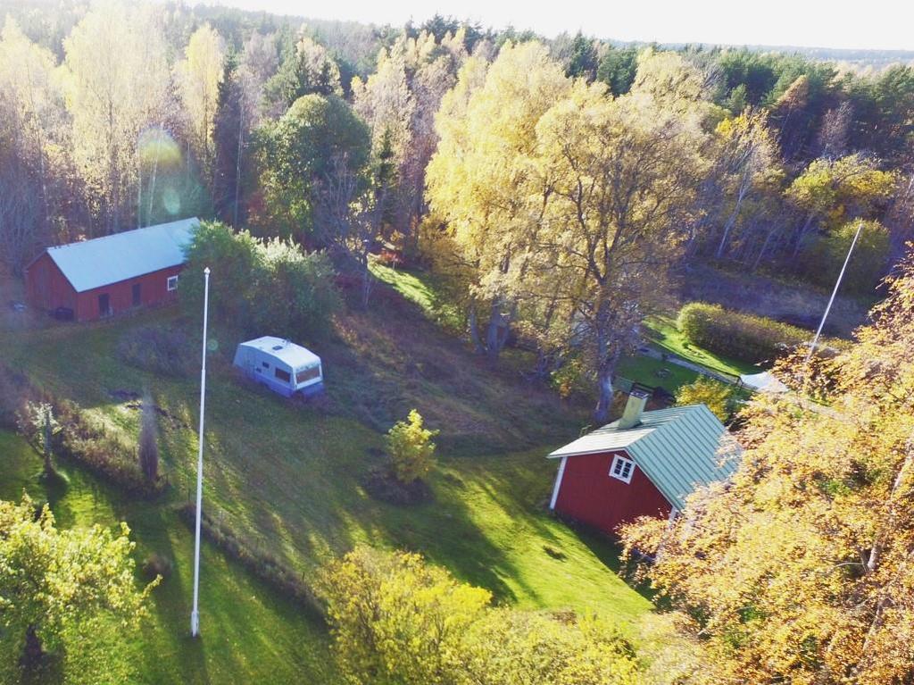
[[[59,306],[65,306],[73,310],[77,321],[94,321],[101,318],[102,313],[99,311],[99,295],[101,294],[108,294],[112,315],[116,316],[133,309],[134,284],[140,284],[140,306],[174,302],[177,298],[177,291],[169,292],[168,278],[176,276],[180,272],[180,265],[173,266],[77,293],[46,252],[29,265],[26,273],[26,287],[30,302],[37,308],[54,311]]]

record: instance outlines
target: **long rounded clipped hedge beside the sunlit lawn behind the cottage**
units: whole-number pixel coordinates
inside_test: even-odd
[[[757,364],[771,361],[787,349],[809,343],[813,332],[765,316],[693,302],[679,311],[679,330],[689,342],[731,359]],[[823,339],[827,347],[842,347],[840,340]]]

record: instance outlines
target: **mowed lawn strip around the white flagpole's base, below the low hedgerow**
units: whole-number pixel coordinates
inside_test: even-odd
[[[269,585],[253,578],[205,543],[201,555],[201,636],[189,634],[193,536],[174,508],[125,498],[78,467],[58,462],[69,486],[54,491],[39,485],[41,460],[25,441],[0,431],[0,498],[18,500],[26,491],[48,501],[61,527],[126,520],[137,542],[137,583],[156,551],[175,562],[155,588],[149,618],[138,636],[116,629],[105,636],[105,658],[131,683],[335,682],[329,636]],[[80,636],[90,639],[92,636]],[[78,676],[71,674],[73,682]]]

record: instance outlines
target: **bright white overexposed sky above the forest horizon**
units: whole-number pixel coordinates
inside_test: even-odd
[[[455,16],[484,27],[618,40],[914,50],[911,0],[217,0],[279,14],[399,26]]]

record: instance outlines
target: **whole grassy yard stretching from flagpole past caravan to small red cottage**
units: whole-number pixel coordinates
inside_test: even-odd
[[[395,302],[345,315],[333,337],[318,341],[329,390],[316,404],[252,388],[234,375],[230,355],[212,356],[208,513],[306,580],[357,543],[405,548],[489,588],[499,603],[594,611],[640,640],[651,604],[615,573],[618,551],[603,538],[569,529],[545,507],[555,465],[544,457],[578,434],[586,412],[569,409],[510,369],[484,367],[403,307]],[[177,326],[178,313],[22,331],[0,341],[10,367],[78,401],[126,441],[135,442],[139,412],[117,399],[118,392],[148,388],[170,415],[160,421],[171,483],[164,500],[119,497],[68,466],[71,487],[54,501],[64,525],[126,519],[139,542],[138,560],[153,551],[175,559],[175,573],[154,593],[154,618],[143,641],[127,650],[143,664],[140,681],[332,682],[324,627],[209,547],[204,639],[186,637],[192,540],[175,506],[189,498],[195,478],[198,381],[155,376],[118,359],[125,331],[148,324]],[[219,339],[223,350],[230,347]],[[361,482],[382,458],[382,429],[411,406],[442,431],[430,477],[435,498],[398,508],[369,498]],[[5,437],[0,454],[33,462],[0,476],[3,495],[16,497],[38,466],[37,457],[27,458],[22,444],[10,440]]]

